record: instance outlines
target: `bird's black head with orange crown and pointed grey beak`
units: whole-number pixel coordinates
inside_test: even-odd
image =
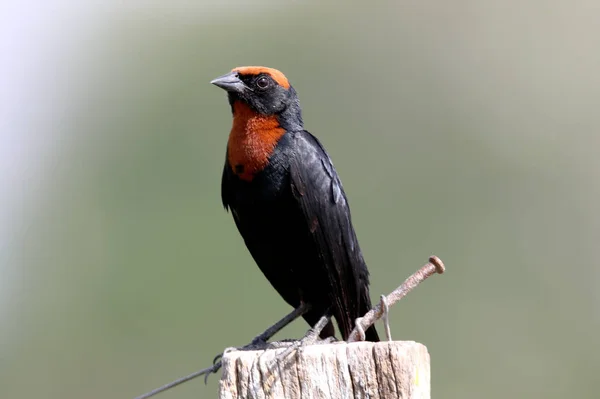
[[[254,112],[277,116],[292,124],[302,126],[298,96],[285,75],[277,69],[247,66],[234,68],[210,83],[227,91],[229,103],[235,113],[238,102],[248,105]]]

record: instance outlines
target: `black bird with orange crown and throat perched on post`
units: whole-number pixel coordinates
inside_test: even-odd
[[[233,123],[221,199],[252,258],[279,295],[315,326],[347,340],[371,309],[369,271],[348,199],[331,158],[304,129],[286,76],[263,66],[234,68],[211,83],[227,92]],[[374,326],[365,331],[377,342]]]

